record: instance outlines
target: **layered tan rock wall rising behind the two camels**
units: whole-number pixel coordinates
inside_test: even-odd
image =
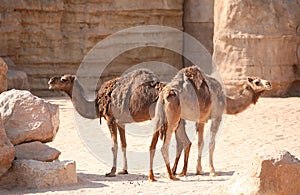
[[[299,0],[4,0],[0,13],[0,56],[10,57],[28,74],[32,92],[38,95],[58,95],[47,90],[48,79],[76,73],[99,41],[129,27],[153,24],[184,30],[199,40],[213,54],[228,92],[246,76],[259,76],[273,83],[269,95],[282,96],[290,88],[300,93]],[[183,39],[172,44],[189,52],[185,50],[189,43]],[[148,61],[183,67],[182,56],[170,50],[135,48],[116,57],[100,82]],[[190,62],[184,60],[184,65]],[[168,74],[162,68],[156,70]],[[0,68],[0,91],[6,88],[6,71]]]

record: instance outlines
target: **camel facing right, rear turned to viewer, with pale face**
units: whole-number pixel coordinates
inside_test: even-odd
[[[171,170],[169,162],[169,144],[172,133],[180,126],[181,120],[196,122],[198,133],[198,160],[196,174],[203,174],[201,166],[201,155],[203,148],[204,125],[211,120],[210,143],[209,143],[209,167],[210,175],[215,176],[213,165],[213,152],[215,149],[215,138],[218,132],[222,115],[237,114],[246,110],[251,104],[256,104],[264,91],[271,90],[271,83],[258,77],[249,77],[235,98],[227,97],[220,82],[203,73],[197,66],[181,69],[177,75],[160,92],[155,109],[154,135],[150,146],[150,170],[149,180],[156,181],[153,175],[153,158],[157,139],[163,139],[161,152],[171,180],[177,180],[174,176],[180,154],[183,150],[182,144],[177,144],[177,154],[174,166]],[[177,134],[177,133],[176,133]],[[175,136],[176,136],[175,134]],[[176,136],[180,143],[180,136]],[[188,155],[190,146],[185,148],[184,167],[181,175],[186,175]]]

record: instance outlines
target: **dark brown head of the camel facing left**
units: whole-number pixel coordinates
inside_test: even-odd
[[[73,89],[75,78],[75,75],[70,74],[66,74],[61,77],[52,77],[48,82],[49,89],[71,91]]]

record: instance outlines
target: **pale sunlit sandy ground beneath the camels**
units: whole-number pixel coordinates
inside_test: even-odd
[[[208,176],[208,155],[206,153],[204,153],[202,164],[207,174],[202,176],[194,174],[197,142],[194,136],[195,129],[193,126],[189,126],[187,131],[193,140],[193,146],[187,177],[176,182],[169,181],[166,177],[165,167],[161,166],[163,165],[161,153],[158,150],[156,152],[156,158],[159,159],[156,162],[158,168],[154,170],[158,182],[148,182],[149,160],[144,158],[148,157],[151,136],[143,137],[142,134],[135,134],[135,132],[127,130],[129,131],[127,134],[128,150],[140,151],[141,157],[128,156],[130,174],[107,178],[104,175],[110,170],[112,163],[110,143],[102,143],[102,140],[97,143],[98,145],[96,144],[99,146],[97,148],[101,154],[90,152],[91,149],[87,146],[89,143],[82,140],[83,132],[78,129],[82,128],[82,125],[89,128],[89,125],[75,120],[73,106],[69,99],[51,98],[49,101],[60,106],[61,120],[57,137],[49,145],[62,152],[60,160],[76,161],[78,184],[42,190],[0,190],[0,194],[202,194],[212,186],[230,179],[235,171],[248,169],[254,157],[262,151],[285,149],[300,157],[300,98],[261,98],[255,106],[251,106],[243,113],[225,116],[214,153],[215,168],[220,176]],[[80,124],[78,125],[78,123]],[[101,126],[100,130],[99,121],[96,120],[92,129],[96,133],[105,129],[106,132],[102,132],[103,136],[109,139],[109,132],[105,124]],[[89,133],[87,132],[87,134]],[[150,134],[146,133],[146,135]],[[91,138],[93,135],[87,137]],[[90,142],[94,142],[92,140]],[[174,153],[174,150],[175,148],[171,146],[170,151]],[[103,156],[101,156],[102,154]],[[120,151],[118,160],[122,161]],[[181,170],[181,165],[182,162],[178,172]],[[139,168],[135,168],[135,166]]]

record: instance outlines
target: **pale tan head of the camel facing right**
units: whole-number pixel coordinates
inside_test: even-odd
[[[246,87],[247,86],[250,86],[255,93],[262,93],[272,89],[272,85],[269,81],[258,77],[248,77]]]

